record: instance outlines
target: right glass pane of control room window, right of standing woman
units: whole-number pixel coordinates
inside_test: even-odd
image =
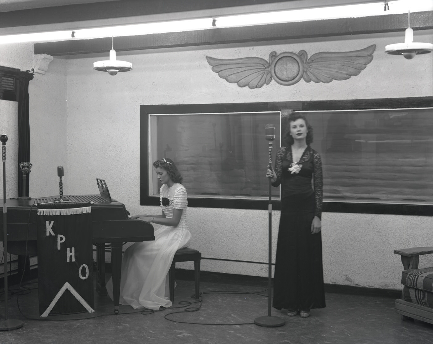
[[[322,156],[324,201],[433,204],[433,108],[299,112]]]

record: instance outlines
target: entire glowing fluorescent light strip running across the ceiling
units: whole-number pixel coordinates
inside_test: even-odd
[[[1,1],[1,0],[0,0]],[[348,18],[363,16],[380,16],[433,10],[433,0],[396,0],[389,1],[389,10],[384,10],[384,2],[364,3],[357,5],[309,8],[304,10],[276,11],[253,13],[216,18],[173,20],[168,22],[151,22],[144,24],[119,25],[94,29],[72,29],[70,31],[39,32],[20,35],[0,36],[1,43],[66,41],[71,39],[119,37],[147,35],[152,33],[181,32],[200,29],[211,29],[213,26],[246,26],[270,24],[277,22],[298,22],[304,20]],[[214,23],[213,23],[214,21]]]

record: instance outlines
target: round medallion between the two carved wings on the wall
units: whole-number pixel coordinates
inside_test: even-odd
[[[284,52],[271,63],[271,74],[280,85],[293,85],[302,78],[304,61],[297,54]]]

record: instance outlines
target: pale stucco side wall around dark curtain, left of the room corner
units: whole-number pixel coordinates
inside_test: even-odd
[[[32,43],[0,46],[0,66],[35,68]],[[66,166],[66,70],[65,60],[56,58],[45,75],[35,73],[29,82],[30,161],[29,196],[58,194],[56,166]],[[0,100],[0,134],[6,142],[6,198],[18,197],[18,102]],[[3,197],[3,178],[0,178]],[[3,198],[2,198],[3,203]],[[2,237],[3,240],[3,237]],[[3,257],[3,246],[0,248]],[[15,259],[12,257],[12,260]],[[16,268],[13,266],[12,269]],[[3,265],[0,266],[3,271]]]

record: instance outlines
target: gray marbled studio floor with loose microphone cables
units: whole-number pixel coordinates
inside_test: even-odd
[[[194,303],[194,282],[177,280],[173,309],[142,314],[120,306],[120,314],[114,315],[111,300],[95,293],[94,313],[45,319],[39,318],[37,283],[26,287],[35,289],[13,294],[8,301],[8,318],[20,319],[24,325],[0,332],[0,344],[433,343],[433,325],[402,321],[391,297],[326,293],[326,308],[312,310],[306,319],[272,309],[285,325],[267,328],[254,324],[254,319],[268,315],[268,292],[260,286],[202,282],[202,302]],[[2,316],[3,307],[4,301]]]

